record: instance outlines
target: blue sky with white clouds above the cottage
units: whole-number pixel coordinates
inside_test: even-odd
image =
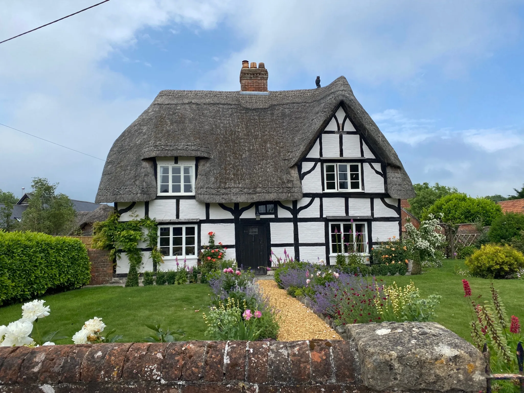
[[[0,38],[91,1],[0,0]],[[413,183],[472,195],[524,183],[524,7],[518,1],[111,0],[0,44],[0,123],[105,158],[162,89],[270,90],[340,75]],[[1,40],[1,39],[0,39]],[[93,201],[103,162],[0,126],[0,189],[31,178]]]

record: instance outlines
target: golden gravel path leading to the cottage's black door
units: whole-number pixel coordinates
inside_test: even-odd
[[[269,303],[280,310],[280,341],[294,340],[341,340],[342,337],[331,329],[313,311],[297,299],[278,288],[273,280],[257,280],[257,284],[269,296]]]

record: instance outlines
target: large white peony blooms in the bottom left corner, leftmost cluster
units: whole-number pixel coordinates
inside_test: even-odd
[[[22,318],[0,326],[0,346],[28,346],[54,345],[51,340],[65,339],[65,336],[57,336],[58,330],[48,333],[42,337],[36,323],[40,318],[50,314],[49,306],[43,305],[45,300],[33,300],[22,306]],[[35,331],[33,329],[35,328]]]

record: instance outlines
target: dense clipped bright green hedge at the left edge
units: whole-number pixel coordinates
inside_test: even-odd
[[[78,239],[0,231],[0,304],[80,288],[90,279],[88,252]]]

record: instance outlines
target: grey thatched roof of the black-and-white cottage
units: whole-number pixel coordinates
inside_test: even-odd
[[[392,198],[412,198],[411,180],[395,150],[355,99],[344,77],[324,88],[241,92],[163,90],[115,141],[96,202],[156,198],[153,157],[200,157],[199,202],[297,200],[297,163],[339,104],[387,163]]]

